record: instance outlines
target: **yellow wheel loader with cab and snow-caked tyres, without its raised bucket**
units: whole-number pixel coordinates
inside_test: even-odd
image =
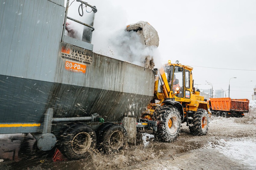
[[[170,60],[163,68],[155,69],[154,98],[141,118],[158,122],[155,137],[161,141],[173,141],[184,122],[194,135],[205,135],[208,131],[209,104],[193,88],[192,70]]]

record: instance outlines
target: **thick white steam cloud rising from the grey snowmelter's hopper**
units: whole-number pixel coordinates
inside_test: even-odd
[[[69,7],[68,16],[78,19],[81,22],[91,23],[91,13],[87,13],[84,8],[84,16],[78,14],[80,3],[75,3]],[[94,28],[92,33],[93,51],[102,55],[128,61],[142,67],[153,69],[152,65],[160,66],[160,55],[157,47],[146,46],[139,35],[134,31],[125,31],[127,25],[126,13],[123,8],[111,1],[87,1],[92,6],[96,6]],[[87,7],[87,11],[91,11]],[[138,17],[138,21],[140,18]],[[75,30],[74,36],[81,40],[83,25],[67,20],[69,27]],[[71,32],[72,33],[72,32]],[[66,35],[69,33],[66,31]],[[70,37],[72,35],[69,35]],[[152,64],[154,60],[155,64]]]

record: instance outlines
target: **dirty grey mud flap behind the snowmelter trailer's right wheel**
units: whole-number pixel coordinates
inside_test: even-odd
[[[122,126],[128,135],[128,144],[136,145],[136,116],[123,116]]]

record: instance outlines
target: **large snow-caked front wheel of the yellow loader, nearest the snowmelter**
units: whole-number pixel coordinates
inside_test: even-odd
[[[180,111],[174,106],[162,106],[156,111],[158,115],[156,139],[163,142],[172,142],[180,132]]]

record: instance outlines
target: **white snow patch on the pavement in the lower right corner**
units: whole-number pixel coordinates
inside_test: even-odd
[[[255,166],[256,139],[239,138],[226,141],[224,139],[208,142],[205,148],[217,149],[230,159],[240,160],[242,164]]]

